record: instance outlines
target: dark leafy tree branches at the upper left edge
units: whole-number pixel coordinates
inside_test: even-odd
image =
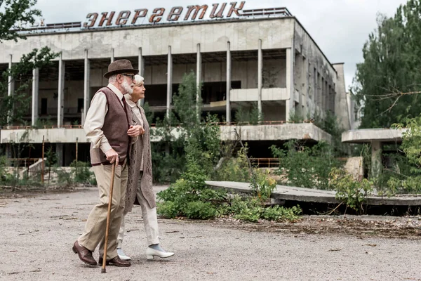
[[[25,34],[18,33],[20,24],[35,22],[35,17],[41,11],[33,9],[36,0],[0,0],[0,43],[2,41],[26,39]],[[0,76],[0,126],[22,123],[22,116],[29,107],[31,97],[27,96],[25,89],[29,86],[29,75],[35,68],[43,68],[50,64],[58,54],[44,47],[34,48],[30,53],[22,55],[19,63],[12,65],[11,69],[4,71]],[[18,88],[8,96],[9,77],[16,82]]]

